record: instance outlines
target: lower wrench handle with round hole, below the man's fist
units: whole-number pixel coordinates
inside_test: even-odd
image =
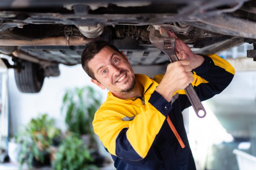
[[[205,111],[199,97],[197,96],[196,91],[193,88],[192,84],[190,83],[184,90],[187,94],[187,97],[188,97],[196,115],[199,118],[204,118],[206,116],[206,111]],[[199,115],[199,111],[201,111],[201,112],[203,111],[204,114],[201,115],[201,112],[200,112],[200,115]]]

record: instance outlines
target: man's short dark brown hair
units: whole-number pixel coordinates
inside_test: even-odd
[[[111,43],[106,41],[96,41],[89,43],[85,49],[83,50],[82,57],[81,57],[81,64],[84,69],[84,71],[92,78],[95,79],[93,71],[89,68],[88,62],[93,59],[93,57],[100,52],[104,47],[109,46],[113,50],[121,52]]]

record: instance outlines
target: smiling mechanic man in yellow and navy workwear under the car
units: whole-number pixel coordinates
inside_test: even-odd
[[[118,170],[196,169],[181,114],[191,106],[183,89],[192,83],[201,101],[209,99],[235,71],[215,54],[193,54],[181,40],[176,51],[180,60],[152,79],[134,74],[124,52],[110,43],[93,42],[83,51],[91,81],[109,90],[93,127]]]

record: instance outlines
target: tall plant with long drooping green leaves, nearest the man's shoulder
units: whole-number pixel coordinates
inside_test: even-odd
[[[67,90],[63,97],[62,112],[66,113],[68,130],[82,135],[82,138],[93,136],[92,121],[100,104],[101,95],[90,86]]]

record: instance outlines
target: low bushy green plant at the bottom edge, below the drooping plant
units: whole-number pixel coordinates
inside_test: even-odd
[[[88,147],[75,133],[68,133],[61,142],[53,162],[54,170],[95,170]]]

